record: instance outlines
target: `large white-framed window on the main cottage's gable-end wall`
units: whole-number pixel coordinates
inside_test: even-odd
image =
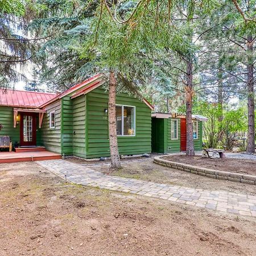
[[[118,136],[135,135],[135,107],[117,105],[115,106],[115,118],[117,121]]]

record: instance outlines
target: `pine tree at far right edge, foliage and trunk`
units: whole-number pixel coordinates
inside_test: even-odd
[[[255,152],[255,1],[226,3],[221,13],[219,34],[226,40],[222,64],[247,96],[247,152]],[[218,13],[217,13],[218,15]],[[216,17],[217,18],[217,17]],[[241,88],[240,87],[240,88]]]

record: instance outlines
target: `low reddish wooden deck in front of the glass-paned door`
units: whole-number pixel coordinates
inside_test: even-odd
[[[61,155],[50,151],[0,152],[0,163],[32,162],[52,159],[61,159]]]

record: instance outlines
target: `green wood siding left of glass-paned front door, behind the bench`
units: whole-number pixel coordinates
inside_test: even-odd
[[[19,124],[13,127],[13,108],[8,106],[0,106],[0,123],[5,126],[0,131],[0,135],[10,136],[13,146],[15,142],[19,143]]]

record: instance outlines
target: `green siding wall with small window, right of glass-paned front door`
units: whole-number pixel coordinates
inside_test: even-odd
[[[55,128],[49,127],[49,113],[55,110]],[[38,129],[38,143],[53,152],[61,152],[61,101],[46,107],[42,128]]]

